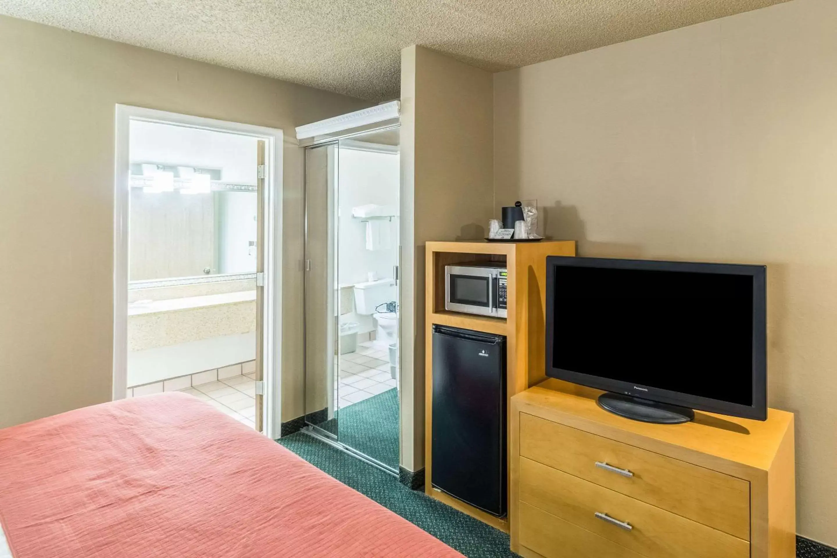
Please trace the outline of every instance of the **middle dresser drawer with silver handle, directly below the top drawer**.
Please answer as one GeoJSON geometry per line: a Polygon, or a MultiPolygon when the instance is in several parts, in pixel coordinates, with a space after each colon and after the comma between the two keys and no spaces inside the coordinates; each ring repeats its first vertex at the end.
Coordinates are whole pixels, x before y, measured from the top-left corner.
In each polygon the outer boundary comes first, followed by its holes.
{"type": "Polygon", "coordinates": [[[527,458],[520,459],[519,498],[645,556],[747,558],[750,555],[746,540],[527,458]],[[627,525],[597,517],[597,513],[627,525]]]}

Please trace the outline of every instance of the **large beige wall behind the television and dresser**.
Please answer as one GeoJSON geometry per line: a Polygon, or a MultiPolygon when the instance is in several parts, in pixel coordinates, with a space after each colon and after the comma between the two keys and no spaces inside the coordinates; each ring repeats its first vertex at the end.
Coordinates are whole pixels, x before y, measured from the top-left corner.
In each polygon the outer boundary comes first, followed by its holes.
{"type": "Polygon", "coordinates": [[[795,0],[495,76],[495,184],[583,256],[768,265],[798,533],[837,545],[837,3],[795,0]]]}

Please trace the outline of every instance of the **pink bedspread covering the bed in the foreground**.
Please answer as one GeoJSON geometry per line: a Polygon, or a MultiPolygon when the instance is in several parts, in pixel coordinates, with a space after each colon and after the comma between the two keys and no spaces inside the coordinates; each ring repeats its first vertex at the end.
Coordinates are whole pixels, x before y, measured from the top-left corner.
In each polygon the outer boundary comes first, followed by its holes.
{"type": "Polygon", "coordinates": [[[0,430],[14,558],[460,556],[195,397],[0,430]]]}

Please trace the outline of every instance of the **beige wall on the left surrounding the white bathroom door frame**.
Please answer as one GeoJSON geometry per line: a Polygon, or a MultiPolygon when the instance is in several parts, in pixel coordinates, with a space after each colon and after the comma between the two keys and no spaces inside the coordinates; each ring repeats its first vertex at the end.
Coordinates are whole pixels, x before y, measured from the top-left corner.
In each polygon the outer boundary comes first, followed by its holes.
{"type": "Polygon", "coordinates": [[[368,103],[7,17],[0,76],[0,427],[110,400],[117,103],[290,136],[283,400],[301,399],[294,127],[368,103]]]}

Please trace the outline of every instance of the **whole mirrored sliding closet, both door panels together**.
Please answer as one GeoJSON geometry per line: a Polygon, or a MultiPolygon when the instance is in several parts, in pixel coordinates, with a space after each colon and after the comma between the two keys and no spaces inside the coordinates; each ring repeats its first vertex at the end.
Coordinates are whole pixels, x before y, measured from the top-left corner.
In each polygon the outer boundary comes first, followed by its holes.
{"type": "Polygon", "coordinates": [[[306,424],[390,473],[399,465],[399,135],[306,147],[306,424]]]}

